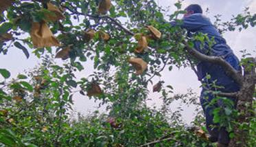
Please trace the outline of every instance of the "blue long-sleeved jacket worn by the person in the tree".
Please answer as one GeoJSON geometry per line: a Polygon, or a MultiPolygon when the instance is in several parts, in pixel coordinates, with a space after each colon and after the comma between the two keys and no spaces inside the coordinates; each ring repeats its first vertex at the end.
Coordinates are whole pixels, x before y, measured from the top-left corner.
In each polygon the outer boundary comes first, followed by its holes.
{"type": "MultiPolygon", "coordinates": [[[[177,25],[177,23],[172,21],[171,25],[177,25]]],[[[226,58],[229,55],[233,55],[233,51],[229,45],[226,45],[225,39],[221,36],[216,27],[214,27],[214,25],[206,16],[200,13],[191,14],[190,16],[183,18],[181,27],[187,30],[189,36],[201,32],[203,34],[207,34],[210,39],[214,38],[216,43],[213,44],[211,48],[209,48],[208,43],[205,42],[205,45],[203,45],[203,48],[201,49],[200,46],[202,45],[200,45],[200,41],[194,41],[194,48],[198,50],[198,52],[207,54],[208,56],[222,56],[223,58],[226,58]]],[[[235,56],[234,58],[236,60],[235,62],[239,64],[239,61],[237,62],[238,59],[235,56]]],[[[209,71],[209,67],[211,67],[210,63],[198,63],[198,80],[202,80],[202,78],[206,76],[207,71],[209,71]]]]}

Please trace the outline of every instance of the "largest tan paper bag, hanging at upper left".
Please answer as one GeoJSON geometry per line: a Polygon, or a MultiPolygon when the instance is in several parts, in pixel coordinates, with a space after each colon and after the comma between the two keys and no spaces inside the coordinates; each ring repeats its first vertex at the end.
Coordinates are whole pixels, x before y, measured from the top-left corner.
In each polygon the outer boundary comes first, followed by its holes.
{"type": "Polygon", "coordinates": [[[60,43],[54,37],[48,25],[42,21],[40,23],[33,22],[30,30],[30,36],[34,47],[51,47],[59,46],[60,43]]]}

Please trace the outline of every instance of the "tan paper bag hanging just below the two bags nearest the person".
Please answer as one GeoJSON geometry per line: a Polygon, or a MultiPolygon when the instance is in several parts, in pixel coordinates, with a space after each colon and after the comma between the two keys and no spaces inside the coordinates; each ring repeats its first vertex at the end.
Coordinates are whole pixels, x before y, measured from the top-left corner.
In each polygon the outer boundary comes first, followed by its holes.
{"type": "Polygon", "coordinates": [[[133,67],[136,69],[136,74],[140,75],[148,68],[148,63],[146,63],[141,58],[130,58],[128,60],[130,64],[132,64],[133,67]]]}

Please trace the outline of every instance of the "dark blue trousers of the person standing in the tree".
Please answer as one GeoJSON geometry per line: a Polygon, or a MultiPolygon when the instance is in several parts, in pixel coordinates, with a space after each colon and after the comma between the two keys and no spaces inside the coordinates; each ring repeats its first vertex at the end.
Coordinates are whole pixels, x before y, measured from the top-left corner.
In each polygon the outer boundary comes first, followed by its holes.
{"type": "MultiPolygon", "coordinates": [[[[239,60],[234,54],[230,54],[229,56],[226,56],[224,60],[226,60],[226,62],[228,62],[236,70],[238,71],[241,70],[239,60]]],[[[229,93],[229,92],[235,92],[240,90],[239,85],[236,82],[234,82],[232,78],[227,76],[224,69],[219,65],[215,65],[212,63],[202,63],[201,65],[202,67],[200,68],[202,69],[202,71],[205,71],[205,73],[201,73],[201,74],[211,75],[211,78],[207,80],[208,83],[212,83],[213,81],[216,81],[216,85],[224,87],[224,88],[218,89],[218,91],[229,93]]],[[[206,82],[206,79],[203,78],[202,82],[206,82]]],[[[218,140],[218,142],[222,144],[229,144],[229,140],[230,140],[229,133],[226,131],[226,128],[220,127],[220,124],[213,123],[213,110],[224,106],[224,103],[221,101],[218,101],[213,105],[209,105],[210,102],[215,98],[215,95],[213,95],[212,93],[206,93],[207,89],[209,89],[209,87],[203,87],[200,95],[200,103],[205,113],[207,130],[209,131],[209,134],[213,139],[218,140]]],[[[234,104],[236,104],[235,98],[228,98],[228,99],[232,100],[234,104]]]]}

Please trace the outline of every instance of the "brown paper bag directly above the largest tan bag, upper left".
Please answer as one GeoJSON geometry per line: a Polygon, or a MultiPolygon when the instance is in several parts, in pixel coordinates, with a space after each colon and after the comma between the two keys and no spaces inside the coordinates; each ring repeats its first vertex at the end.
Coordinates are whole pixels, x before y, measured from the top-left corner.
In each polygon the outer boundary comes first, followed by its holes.
{"type": "Polygon", "coordinates": [[[65,16],[62,12],[52,3],[47,3],[47,10],[52,12],[51,14],[45,13],[45,17],[49,21],[58,21],[60,19],[65,19],[65,16]]]}

